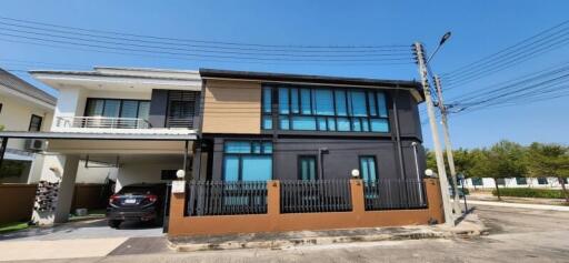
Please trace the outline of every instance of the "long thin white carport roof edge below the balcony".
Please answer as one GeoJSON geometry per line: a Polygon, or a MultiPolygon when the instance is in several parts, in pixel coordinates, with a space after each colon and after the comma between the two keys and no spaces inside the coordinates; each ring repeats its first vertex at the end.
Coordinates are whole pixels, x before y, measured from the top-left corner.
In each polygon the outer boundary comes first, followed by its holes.
{"type": "Polygon", "coordinates": [[[139,134],[139,133],[79,133],[79,132],[23,132],[3,131],[0,138],[18,139],[73,139],[73,140],[140,140],[140,141],[193,141],[196,134],[139,134]]]}

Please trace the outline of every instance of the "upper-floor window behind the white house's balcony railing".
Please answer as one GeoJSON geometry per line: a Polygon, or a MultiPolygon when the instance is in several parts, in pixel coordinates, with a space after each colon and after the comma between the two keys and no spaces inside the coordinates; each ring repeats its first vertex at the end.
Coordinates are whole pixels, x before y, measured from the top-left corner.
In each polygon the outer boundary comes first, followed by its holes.
{"type": "Polygon", "coordinates": [[[150,101],[91,99],[87,100],[86,117],[133,118],[148,120],[150,101]]]}

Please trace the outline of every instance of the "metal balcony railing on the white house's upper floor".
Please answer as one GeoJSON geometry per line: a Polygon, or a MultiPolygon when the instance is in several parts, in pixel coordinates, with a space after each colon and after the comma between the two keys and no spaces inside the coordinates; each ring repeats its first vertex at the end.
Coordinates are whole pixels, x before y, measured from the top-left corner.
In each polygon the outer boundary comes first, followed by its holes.
{"type": "Polygon", "coordinates": [[[109,117],[59,117],[58,128],[93,128],[93,129],[150,129],[147,120],[138,118],[109,117]]]}

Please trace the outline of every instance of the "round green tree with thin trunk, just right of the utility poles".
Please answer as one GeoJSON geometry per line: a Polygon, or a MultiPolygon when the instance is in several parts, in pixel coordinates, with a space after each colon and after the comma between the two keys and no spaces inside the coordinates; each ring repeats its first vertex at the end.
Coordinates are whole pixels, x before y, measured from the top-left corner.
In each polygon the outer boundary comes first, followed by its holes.
{"type": "Polygon", "coordinates": [[[522,178],[527,174],[525,149],[518,143],[502,140],[485,151],[486,168],[480,172],[488,172],[486,176],[492,178],[496,184],[498,200],[501,200],[499,179],[522,178]]]}

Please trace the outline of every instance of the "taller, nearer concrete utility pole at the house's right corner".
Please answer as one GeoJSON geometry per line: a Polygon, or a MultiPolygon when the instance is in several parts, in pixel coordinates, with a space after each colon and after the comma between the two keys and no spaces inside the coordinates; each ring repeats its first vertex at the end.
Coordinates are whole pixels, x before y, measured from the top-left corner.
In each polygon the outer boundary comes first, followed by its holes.
{"type": "Polygon", "coordinates": [[[419,65],[419,75],[421,77],[422,90],[425,93],[425,103],[427,104],[427,113],[429,115],[429,124],[432,133],[432,144],[435,145],[435,156],[437,158],[437,170],[439,174],[440,193],[442,195],[442,210],[445,212],[445,223],[455,226],[455,219],[452,216],[452,209],[449,201],[449,184],[447,182],[447,171],[445,170],[445,159],[439,141],[439,130],[437,128],[435,109],[432,107],[431,91],[429,88],[429,80],[427,78],[427,62],[425,60],[425,51],[422,44],[415,42],[415,52],[417,55],[417,63],[419,65]]]}

